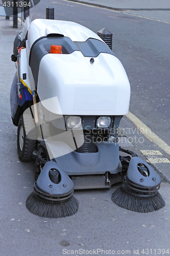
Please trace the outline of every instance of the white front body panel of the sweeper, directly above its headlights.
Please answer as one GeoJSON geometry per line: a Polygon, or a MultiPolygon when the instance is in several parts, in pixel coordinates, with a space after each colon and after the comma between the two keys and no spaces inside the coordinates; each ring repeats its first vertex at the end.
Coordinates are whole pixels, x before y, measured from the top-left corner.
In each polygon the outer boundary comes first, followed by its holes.
{"type": "Polygon", "coordinates": [[[93,65],[78,51],[46,54],[40,62],[37,92],[42,104],[57,96],[60,108],[53,101],[53,113],[60,115],[126,115],[129,111],[127,74],[122,63],[107,53],[94,58],[93,65]]]}

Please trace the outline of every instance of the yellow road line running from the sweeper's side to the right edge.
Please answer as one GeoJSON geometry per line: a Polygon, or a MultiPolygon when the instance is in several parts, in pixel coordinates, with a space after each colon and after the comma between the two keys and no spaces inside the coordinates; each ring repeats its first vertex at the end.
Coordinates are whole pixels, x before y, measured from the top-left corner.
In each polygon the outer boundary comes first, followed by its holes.
{"type": "Polygon", "coordinates": [[[155,144],[157,144],[162,150],[164,150],[168,155],[170,155],[170,146],[168,146],[162,139],[160,139],[155,133],[149,129],[147,125],[145,125],[142,121],[139,120],[135,115],[131,112],[126,115],[137,127],[139,127],[142,134],[148,136],[150,140],[152,140],[155,144]]]}

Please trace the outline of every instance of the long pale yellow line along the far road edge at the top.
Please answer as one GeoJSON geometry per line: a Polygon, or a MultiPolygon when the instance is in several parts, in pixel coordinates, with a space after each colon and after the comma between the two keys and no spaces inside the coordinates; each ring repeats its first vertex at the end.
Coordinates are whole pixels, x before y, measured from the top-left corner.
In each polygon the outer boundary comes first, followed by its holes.
{"type": "MultiPolygon", "coordinates": [[[[104,9],[104,10],[108,10],[108,11],[111,11],[111,12],[124,13],[124,14],[127,14],[127,15],[137,16],[137,17],[140,17],[140,18],[147,18],[147,19],[151,19],[151,20],[156,20],[157,22],[163,22],[163,23],[170,24],[170,22],[164,22],[163,20],[159,20],[159,19],[155,19],[155,18],[149,18],[149,17],[145,17],[145,16],[140,16],[140,15],[137,15],[137,14],[127,13],[125,11],[116,11],[116,10],[113,10],[113,9],[109,9],[109,7],[107,8],[107,6],[106,7],[100,7],[100,6],[89,5],[88,3],[79,3],[79,2],[69,1],[69,0],[68,1],[67,0],[62,0],[62,1],[72,2],[72,3],[78,4],[78,5],[85,5],[85,6],[89,6],[89,7],[93,7],[93,8],[98,8],[98,9],[104,9]]],[[[51,2],[51,3],[53,3],[53,2],[51,2]]],[[[133,11],[135,11],[135,10],[133,10],[133,11]]]]}

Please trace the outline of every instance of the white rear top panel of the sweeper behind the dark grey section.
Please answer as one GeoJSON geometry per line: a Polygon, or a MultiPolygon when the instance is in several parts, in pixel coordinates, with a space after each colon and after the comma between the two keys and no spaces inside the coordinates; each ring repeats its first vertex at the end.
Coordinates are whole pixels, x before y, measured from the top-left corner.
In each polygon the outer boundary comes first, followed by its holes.
{"type": "Polygon", "coordinates": [[[88,38],[95,38],[103,41],[90,29],[75,22],[54,19],[35,19],[28,30],[29,53],[33,43],[38,38],[47,36],[48,34],[61,34],[70,37],[72,41],[86,41],[88,38]]]}

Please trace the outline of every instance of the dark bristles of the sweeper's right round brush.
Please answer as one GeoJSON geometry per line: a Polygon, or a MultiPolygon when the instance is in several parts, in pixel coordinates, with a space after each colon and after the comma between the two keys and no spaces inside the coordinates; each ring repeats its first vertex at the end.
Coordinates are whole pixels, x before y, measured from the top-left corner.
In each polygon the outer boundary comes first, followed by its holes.
{"type": "Polygon", "coordinates": [[[137,212],[151,212],[165,206],[165,202],[159,192],[151,197],[138,197],[127,194],[122,187],[114,191],[111,199],[118,206],[137,212]]]}

